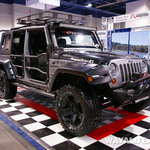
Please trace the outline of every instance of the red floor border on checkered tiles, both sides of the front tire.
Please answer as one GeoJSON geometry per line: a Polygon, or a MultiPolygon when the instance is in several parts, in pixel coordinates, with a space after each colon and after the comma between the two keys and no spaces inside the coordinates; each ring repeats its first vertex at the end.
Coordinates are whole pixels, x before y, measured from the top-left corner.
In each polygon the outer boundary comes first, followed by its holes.
{"type": "MultiPolygon", "coordinates": [[[[38,104],[32,100],[29,100],[29,99],[27,99],[27,98],[25,98],[19,94],[17,94],[15,96],[15,99],[17,101],[20,101],[20,102],[24,103],[25,105],[27,105],[31,108],[34,108],[35,110],[37,110],[43,114],[46,114],[49,117],[58,121],[56,111],[54,111],[48,107],[45,107],[41,104],[38,104]]],[[[119,112],[119,109],[114,109],[113,107],[109,107],[107,109],[112,110],[112,111],[116,111],[116,112],[123,114],[123,115],[126,115],[126,117],[96,129],[92,133],[88,134],[89,137],[91,137],[95,140],[100,140],[100,139],[102,139],[108,135],[114,134],[114,133],[116,133],[116,132],[118,132],[118,131],[132,125],[132,124],[135,124],[135,123],[141,121],[142,119],[144,119],[146,117],[148,117],[148,116],[141,115],[138,113],[127,112],[125,110],[122,110],[119,112]]]]}

